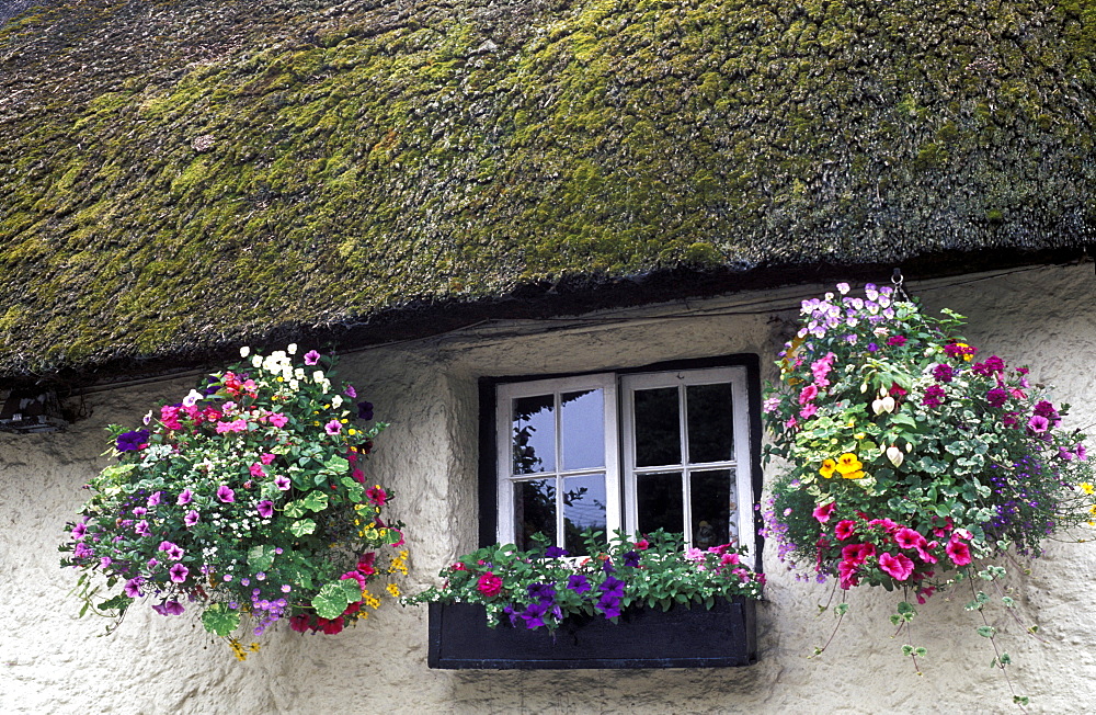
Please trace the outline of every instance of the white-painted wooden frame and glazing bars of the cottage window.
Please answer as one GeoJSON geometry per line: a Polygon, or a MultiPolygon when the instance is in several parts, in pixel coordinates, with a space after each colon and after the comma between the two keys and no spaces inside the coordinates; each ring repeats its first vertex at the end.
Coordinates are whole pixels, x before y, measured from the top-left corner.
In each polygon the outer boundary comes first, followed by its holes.
{"type": "MultiPolygon", "coordinates": [[[[556,450],[560,454],[561,412],[560,395],[584,389],[602,389],[604,396],[605,425],[605,495],[607,531],[624,529],[632,534],[638,529],[636,500],[636,475],[644,472],[682,470],[686,475],[683,481],[684,527],[686,543],[692,542],[692,500],[688,493],[692,472],[712,469],[730,469],[734,475],[734,498],[738,504],[738,545],[747,549],[751,559],[756,559],[756,538],[754,534],[753,461],[751,459],[750,399],[746,367],[744,365],[728,365],[721,367],[682,368],[669,371],[652,371],[640,373],[596,373],[549,379],[537,379],[514,383],[499,383],[495,387],[495,435],[496,462],[495,479],[498,484],[498,513],[495,521],[496,538],[500,543],[515,543],[514,524],[514,485],[529,479],[582,476],[600,473],[601,469],[584,468],[563,470],[557,461],[553,472],[515,475],[513,456],[513,405],[523,397],[553,395],[556,399],[556,450]],[[732,429],[734,434],[733,458],[724,462],[689,465],[686,453],[687,444],[682,445],[681,465],[660,465],[658,467],[635,467],[635,410],[633,395],[636,389],[650,387],[677,387],[681,385],[705,385],[729,383],[731,385],[732,429]]],[[[687,420],[685,390],[678,390],[681,400],[678,416],[687,420]]],[[[682,432],[683,433],[683,432],[682,432]]],[[[686,440],[687,442],[687,440],[686,440]]],[[[561,499],[561,489],[557,489],[557,500],[561,499]]],[[[557,501],[556,531],[563,531],[563,509],[557,501]]]]}

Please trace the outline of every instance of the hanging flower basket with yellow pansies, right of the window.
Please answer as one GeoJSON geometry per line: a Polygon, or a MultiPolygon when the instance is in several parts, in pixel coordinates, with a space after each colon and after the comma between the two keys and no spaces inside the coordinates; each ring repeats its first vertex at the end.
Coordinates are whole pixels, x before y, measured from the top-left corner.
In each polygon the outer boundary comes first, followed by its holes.
{"type": "MultiPolygon", "coordinates": [[[[1037,556],[1051,533],[1092,523],[1092,468],[1084,435],[1061,427],[1068,405],[1026,367],[981,359],[956,313],[931,317],[890,287],[837,291],[803,302],[765,400],[766,462],[790,465],[764,510],[783,560],[924,603],[979,561],[1037,556]]],[[[977,593],[974,608],[986,600],[977,593]]],[[[909,622],[913,606],[895,615],[909,622]]]]}

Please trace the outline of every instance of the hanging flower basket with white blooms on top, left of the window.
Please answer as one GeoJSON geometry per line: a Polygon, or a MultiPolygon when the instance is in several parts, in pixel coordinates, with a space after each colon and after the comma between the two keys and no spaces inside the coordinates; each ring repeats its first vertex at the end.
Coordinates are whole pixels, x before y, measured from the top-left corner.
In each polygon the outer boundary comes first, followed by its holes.
{"type": "MultiPolygon", "coordinates": [[[[68,524],[62,566],[82,571],[89,610],[119,623],[135,601],[162,615],[185,603],[205,628],[228,638],[249,616],[254,635],[288,620],[298,632],[339,633],[377,608],[369,585],[406,574],[401,524],[380,514],[391,495],[365,483],[364,459],[385,427],[350,385],[332,382],[333,356],[296,363],[296,347],[204,379],[145,427],[111,425],[106,467],[68,524]],[[96,578],[99,577],[99,578],[96,578]],[[122,592],[101,602],[103,586],[122,592]]],[[[241,350],[248,359],[249,349],[241,350]]],[[[395,583],[388,592],[398,597],[395,583]]]]}

